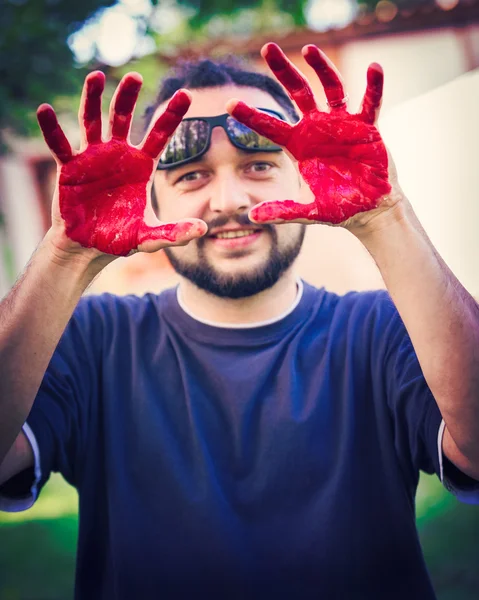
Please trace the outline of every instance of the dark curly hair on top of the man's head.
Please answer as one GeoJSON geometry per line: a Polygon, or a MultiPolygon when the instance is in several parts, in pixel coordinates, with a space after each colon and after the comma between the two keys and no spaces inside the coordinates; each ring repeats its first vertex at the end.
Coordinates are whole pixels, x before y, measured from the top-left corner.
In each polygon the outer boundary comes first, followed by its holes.
{"type": "Polygon", "coordinates": [[[239,59],[229,58],[214,61],[203,58],[195,61],[183,61],[167,73],[160,84],[155,102],[145,111],[145,128],[150,124],[158,106],[169,100],[180,88],[201,89],[225,85],[254,87],[263,90],[276,100],[293,123],[299,120],[294,104],[275,79],[253,70],[250,64],[239,59]]]}

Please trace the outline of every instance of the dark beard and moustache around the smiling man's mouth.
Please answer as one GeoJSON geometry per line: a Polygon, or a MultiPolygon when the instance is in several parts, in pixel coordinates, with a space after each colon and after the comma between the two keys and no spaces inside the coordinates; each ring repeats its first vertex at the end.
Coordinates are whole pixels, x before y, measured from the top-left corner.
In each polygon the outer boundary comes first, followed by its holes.
{"type": "MultiPolygon", "coordinates": [[[[252,224],[255,227],[258,226],[248,219],[248,215],[242,214],[235,215],[234,217],[218,217],[208,224],[208,229],[211,231],[211,229],[215,227],[223,227],[231,222],[235,222],[242,226],[252,224]]],[[[278,234],[273,225],[261,225],[261,229],[264,233],[271,236],[271,249],[266,262],[262,266],[247,273],[219,273],[206,256],[205,237],[199,238],[196,241],[198,259],[194,263],[183,261],[175,256],[172,248],[165,248],[164,251],[174,270],[200,289],[221,298],[247,298],[248,296],[254,296],[263,290],[272,287],[279,280],[281,275],[289,269],[303,245],[306,225],[301,225],[297,236],[288,246],[283,248],[280,248],[279,246],[278,234]]],[[[242,252],[237,254],[238,257],[243,255],[242,252]]],[[[231,259],[234,260],[234,254],[231,256],[231,259]]]]}

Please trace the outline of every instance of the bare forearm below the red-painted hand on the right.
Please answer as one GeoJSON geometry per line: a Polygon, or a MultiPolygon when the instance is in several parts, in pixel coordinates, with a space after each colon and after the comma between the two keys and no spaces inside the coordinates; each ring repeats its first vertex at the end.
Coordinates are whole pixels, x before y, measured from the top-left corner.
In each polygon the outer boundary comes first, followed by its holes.
{"type": "Polygon", "coordinates": [[[479,469],[479,308],[405,200],[356,234],[404,321],[449,434],[479,469]],[[392,218],[391,218],[392,217],[392,218]]]}

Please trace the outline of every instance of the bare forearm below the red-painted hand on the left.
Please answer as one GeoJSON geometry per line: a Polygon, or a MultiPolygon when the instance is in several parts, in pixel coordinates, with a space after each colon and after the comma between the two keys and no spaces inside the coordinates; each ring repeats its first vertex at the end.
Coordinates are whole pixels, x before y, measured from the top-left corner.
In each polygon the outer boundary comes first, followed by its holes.
{"type": "Polygon", "coordinates": [[[51,236],[0,303],[0,464],[27,418],[43,375],[83,291],[98,273],[51,236]]]}

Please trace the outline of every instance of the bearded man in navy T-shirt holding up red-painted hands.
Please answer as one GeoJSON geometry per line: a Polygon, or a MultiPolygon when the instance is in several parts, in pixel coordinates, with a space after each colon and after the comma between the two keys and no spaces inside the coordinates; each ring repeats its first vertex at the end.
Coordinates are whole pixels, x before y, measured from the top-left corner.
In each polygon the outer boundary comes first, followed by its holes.
{"type": "Polygon", "coordinates": [[[87,78],[79,153],[39,109],[59,179],[2,303],[0,481],[17,509],[51,470],[77,487],[78,598],[434,598],[419,470],[478,500],[478,308],[374,126],[382,71],[351,115],[317,48],[328,111],[277,46],[263,56],[299,122],[272,80],[208,61],[164,82],[136,148],[136,74],[105,140],[87,78]],[[356,235],[389,294],[299,281],[310,222],[356,235]],[[79,302],[115,256],[162,247],[178,290],[79,302]]]}

